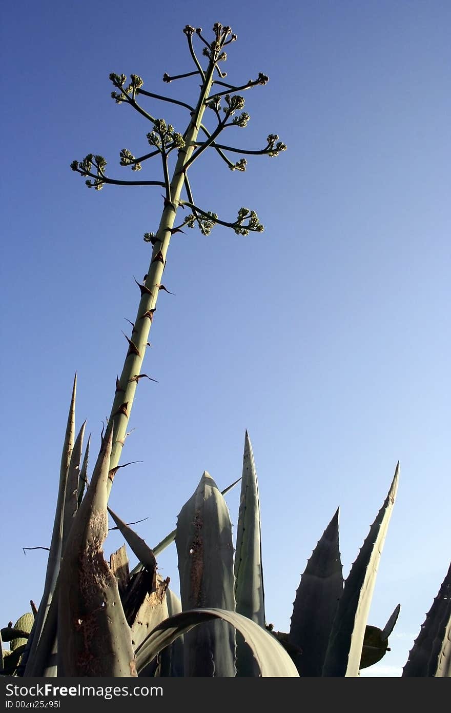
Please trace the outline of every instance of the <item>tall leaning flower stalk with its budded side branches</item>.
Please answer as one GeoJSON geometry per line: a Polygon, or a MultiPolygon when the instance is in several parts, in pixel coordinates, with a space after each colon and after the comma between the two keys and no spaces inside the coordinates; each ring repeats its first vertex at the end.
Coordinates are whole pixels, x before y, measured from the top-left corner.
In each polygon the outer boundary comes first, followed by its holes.
{"type": "MultiPolygon", "coordinates": [[[[125,86],[127,78],[125,75],[111,74],[110,80],[115,86],[112,97],[117,103],[128,103],[138,113],[145,116],[152,124],[152,130],[147,133],[147,140],[152,146],[150,153],[136,158],[128,149],[120,151],[120,164],[130,166],[132,170],[139,171],[145,160],[160,155],[162,161],[163,180],[133,180],[123,181],[108,178],[105,174],[106,160],[99,155],[87,155],[80,163],[73,161],[71,168],[81,175],[88,177],[86,184],[90,188],[100,190],[105,184],[113,185],[155,185],[164,188],[164,206],[160,225],[157,232],[145,233],[145,240],[152,242],[152,257],[150,265],[142,284],[138,283],[140,289],[140,303],[136,314],[135,322],[130,337],[125,337],[128,341],[128,351],[125,356],[122,373],[116,381],[115,396],[113,406],[110,411],[108,425],[104,438],[108,438],[110,431],[113,431],[113,446],[110,456],[110,478],[108,492],[113,482],[113,476],[118,468],[120,455],[127,435],[128,421],[135,398],[135,391],[142,378],[150,378],[147,374],[142,374],[142,361],[145,351],[149,345],[149,333],[152,326],[153,314],[156,309],[157,297],[161,289],[166,289],[162,284],[162,275],[165,270],[167,250],[170,245],[171,236],[175,232],[182,230],[185,225],[194,227],[197,225],[203,235],[208,235],[215,224],[230,227],[238,235],[247,235],[249,231],[261,232],[264,228],[259,222],[256,212],[242,207],[238,211],[237,219],[230,222],[221,220],[215,213],[203,210],[195,204],[190,183],[188,180],[188,170],[191,165],[204,153],[207,148],[216,150],[220,158],[227,163],[231,170],[244,171],[246,159],[241,158],[236,163],[228,158],[228,153],[248,153],[259,155],[278,155],[279,151],[285,150],[286,146],[278,141],[279,137],[270,134],[267,143],[261,150],[241,150],[234,146],[217,143],[217,138],[226,128],[245,127],[249,121],[249,114],[242,111],[244,108],[244,98],[237,94],[256,85],[263,85],[268,81],[263,73],[259,73],[256,80],[250,80],[241,86],[233,86],[223,81],[226,76],[219,68],[219,63],[227,59],[224,47],[232,43],[237,37],[232,34],[229,27],[224,27],[217,23],[213,28],[214,39],[207,42],[202,36],[202,29],[195,29],[187,25],[184,33],[187,36],[187,43],[190,55],[195,63],[196,70],[177,76],[165,74],[163,81],[181,79],[189,76],[201,78],[199,97],[195,106],[177,101],[172,98],[160,96],[142,89],[142,79],[132,74],[130,84],[125,86]],[[193,37],[203,43],[202,55],[208,59],[207,67],[204,69],[197,58],[193,46],[193,37]],[[216,88],[219,91],[214,93],[216,88]],[[147,96],[159,101],[167,101],[185,107],[190,111],[190,122],[183,134],[177,133],[172,125],[167,124],[164,119],[158,119],[147,113],[140,104],[138,96],[147,96]],[[202,118],[206,109],[213,111],[217,118],[217,126],[209,131],[202,123],[202,118]],[[237,112],[241,112],[237,115],[237,112]],[[204,139],[198,140],[199,132],[202,131],[204,139]],[[170,178],[169,159],[170,154],[177,150],[177,162],[170,178]],[[185,191],[186,197],[182,198],[185,191]],[[188,207],[192,211],[183,222],[175,226],[175,217],[179,207],[188,207]]],[[[99,455],[100,458],[100,455],[99,455]]]]}

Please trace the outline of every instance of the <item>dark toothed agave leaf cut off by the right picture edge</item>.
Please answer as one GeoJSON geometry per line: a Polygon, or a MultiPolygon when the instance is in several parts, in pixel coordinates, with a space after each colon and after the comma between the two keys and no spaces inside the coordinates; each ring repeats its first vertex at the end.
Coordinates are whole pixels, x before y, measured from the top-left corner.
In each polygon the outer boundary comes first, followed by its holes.
{"type": "Polygon", "coordinates": [[[402,675],[451,677],[451,564],[410,650],[402,675]]]}

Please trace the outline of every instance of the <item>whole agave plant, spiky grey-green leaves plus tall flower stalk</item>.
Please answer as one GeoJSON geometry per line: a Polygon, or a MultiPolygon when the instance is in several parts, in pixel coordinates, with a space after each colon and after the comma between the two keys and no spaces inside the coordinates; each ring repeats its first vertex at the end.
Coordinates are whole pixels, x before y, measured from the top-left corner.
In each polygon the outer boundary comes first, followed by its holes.
{"type": "MultiPolygon", "coordinates": [[[[1,630],[3,639],[11,641],[10,652],[2,653],[2,672],[25,677],[358,676],[361,668],[385,655],[400,608],[395,607],[383,629],[368,625],[375,576],[398,488],[399,464],[346,581],[338,548],[338,511],[333,515],[301,577],[289,632],[274,632],[266,622],[259,490],[247,433],[235,548],[225,491],[219,491],[207,472],[181,509],[175,530],[154,548],[108,508],[115,473],[128,465],[119,462],[135,391],[143,378],[150,379],[142,373],[142,361],[158,294],[168,292],[162,275],[172,235],[194,225],[204,235],[216,224],[230,227],[238,235],[263,230],[254,210],[242,207],[236,220],[226,221],[196,205],[187,178],[190,166],[211,148],[228,168],[243,171],[245,158],[234,163],[230,153],[274,157],[286,148],[276,134],[269,134],[259,150],[218,143],[226,128],[247,125],[249,115],[242,111],[244,98],[239,92],[264,85],[268,78],[259,73],[255,80],[239,86],[224,82],[219,63],[226,59],[224,47],[236,39],[229,27],[215,24],[212,41],[204,38],[202,29],[186,26],[184,32],[195,71],[165,74],[163,80],[200,78],[199,96],[192,106],[143,90],[137,75],[130,76],[128,85],[125,75],[110,75],[115,102],[131,106],[151,123],[147,133],[150,153],[136,158],[123,149],[120,165],[136,172],[146,160],[159,156],[162,180],[110,178],[105,173],[106,160],[100,155],[88,154],[71,164],[95,190],[124,183],[161,187],[163,210],[157,231],[145,233],[145,240],[152,243],[152,257],[144,281],[138,283],[138,312],[130,337],[125,335],[123,370],[116,380],[113,406],[89,483],[89,441],[82,461],[85,424],[77,436],[75,430],[74,381],[43,597],[38,610],[1,630]],[[203,43],[205,68],[195,52],[195,37],[203,43]],[[138,103],[141,96],[186,108],[190,118],[184,133],[142,108],[138,103]],[[203,123],[207,110],[216,123],[210,130],[203,123]],[[199,132],[203,140],[199,140],[199,132]],[[175,154],[170,178],[170,160],[175,154]],[[181,206],[192,212],[175,226],[181,206]],[[125,546],[111,555],[109,563],[103,556],[108,512],[139,560],[131,572],[125,546]],[[170,588],[170,580],[163,580],[157,571],[157,556],[174,540],[180,598],[170,588]]],[[[450,675],[450,580],[449,570],[410,652],[404,675],[450,675]]]]}

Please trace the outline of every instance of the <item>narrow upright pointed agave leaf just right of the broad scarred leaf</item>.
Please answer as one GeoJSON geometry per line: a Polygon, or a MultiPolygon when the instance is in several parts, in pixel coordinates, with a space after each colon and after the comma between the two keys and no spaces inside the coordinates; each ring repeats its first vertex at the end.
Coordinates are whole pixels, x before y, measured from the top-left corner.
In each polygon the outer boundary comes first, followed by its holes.
{"type": "MultiPolygon", "coordinates": [[[[237,550],[234,560],[237,612],[265,626],[259,486],[249,434],[244,436],[243,474],[239,501],[237,550]]],[[[256,676],[256,662],[237,635],[237,676],[256,676]]]]}

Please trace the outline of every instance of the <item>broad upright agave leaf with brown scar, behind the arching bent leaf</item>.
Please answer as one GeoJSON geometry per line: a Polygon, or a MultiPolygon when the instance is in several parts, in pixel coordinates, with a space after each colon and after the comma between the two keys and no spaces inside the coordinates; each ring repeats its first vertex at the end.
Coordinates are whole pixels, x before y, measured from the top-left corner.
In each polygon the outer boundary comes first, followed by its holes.
{"type": "MultiPolygon", "coordinates": [[[[183,610],[234,611],[232,523],[226,502],[206,471],[177,518],[175,535],[183,610]]],[[[212,620],[185,637],[185,675],[234,677],[235,632],[212,620]]]]}

